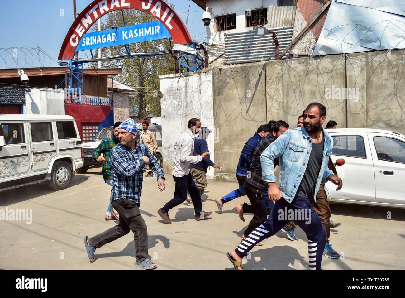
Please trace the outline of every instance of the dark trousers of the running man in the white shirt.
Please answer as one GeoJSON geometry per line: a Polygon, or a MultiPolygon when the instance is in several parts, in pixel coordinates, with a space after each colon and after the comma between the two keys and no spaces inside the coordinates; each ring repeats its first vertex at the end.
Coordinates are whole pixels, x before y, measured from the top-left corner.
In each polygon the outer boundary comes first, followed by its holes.
{"type": "Polygon", "coordinates": [[[187,199],[187,191],[188,191],[188,193],[190,193],[190,197],[193,202],[194,211],[196,212],[196,215],[201,215],[201,212],[203,212],[203,205],[201,204],[200,190],[196,186],[196,183],[194,182],[191,173],[188,173],[183,177],[173,176],[173,179],[175,180],[176,183],[175,197],[162,207],[162,212],[167,213],[172,208],[179,206],[181,203],[183,203],[187,199]]]}

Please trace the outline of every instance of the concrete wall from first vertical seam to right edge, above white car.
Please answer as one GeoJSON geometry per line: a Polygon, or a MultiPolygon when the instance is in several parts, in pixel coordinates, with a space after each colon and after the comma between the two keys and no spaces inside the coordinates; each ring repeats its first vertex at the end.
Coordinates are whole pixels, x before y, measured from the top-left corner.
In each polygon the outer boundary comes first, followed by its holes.
{"type": "Polygon", "coordinates": [[[269,61],[268,118],[294,126],[304,108],[317,101],[326,106],[326,122],[335,120],[338,128],[405,134],[404,54],[405,50],[396,50],[269,61]]]}

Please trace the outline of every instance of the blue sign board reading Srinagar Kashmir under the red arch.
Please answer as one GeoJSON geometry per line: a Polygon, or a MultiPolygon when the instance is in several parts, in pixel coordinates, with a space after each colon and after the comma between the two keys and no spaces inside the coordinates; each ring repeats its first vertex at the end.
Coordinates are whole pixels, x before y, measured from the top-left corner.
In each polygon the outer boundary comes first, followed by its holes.
{"type": "Polygon", "coordinates": [[[154,21],[117,29],[86,33],[81,38],[76,51],[128,45],[130,43],[141,43],[143,41],[154,41],[170,37],[171,35],[166,27],[164,27],[160,21],[154,21]]]}

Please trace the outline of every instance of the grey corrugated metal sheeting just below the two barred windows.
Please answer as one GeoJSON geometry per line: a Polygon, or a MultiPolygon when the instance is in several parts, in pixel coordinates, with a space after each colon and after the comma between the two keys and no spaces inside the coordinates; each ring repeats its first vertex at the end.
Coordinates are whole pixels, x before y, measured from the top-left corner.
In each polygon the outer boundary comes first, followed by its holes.
{"type": "MultiPolygon", "coordinates": [[[[269,28],[277,34],[279,53],[291,43],[292,30],[290,27],[269,28]]],[[[226,64],[258,62],[276,58],[276,46],[273,36],[255,35],[255,30],[239,33],[225,34],[225,59],[226,64]]]]}

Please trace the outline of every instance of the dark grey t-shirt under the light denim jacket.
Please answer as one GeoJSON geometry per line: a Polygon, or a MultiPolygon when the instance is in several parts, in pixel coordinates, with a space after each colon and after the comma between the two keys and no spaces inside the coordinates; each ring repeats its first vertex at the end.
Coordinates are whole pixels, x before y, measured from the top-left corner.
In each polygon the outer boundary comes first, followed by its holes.
{"type": "Polygon", "coordinates": [[[311,154],[309,154],[308,165],[305,169],[301,184],[298,187],[296,194],[297,197],[307,197],[308,199],[311,199],[311,197],[313,197],[316,180],[318,180],[319,171],[321,170],[322,155],[324,153],[324,143],[325,137],[323,134],[322,141],[320,141],[318,144],[312,143],[312,150],[311,154]]]}

